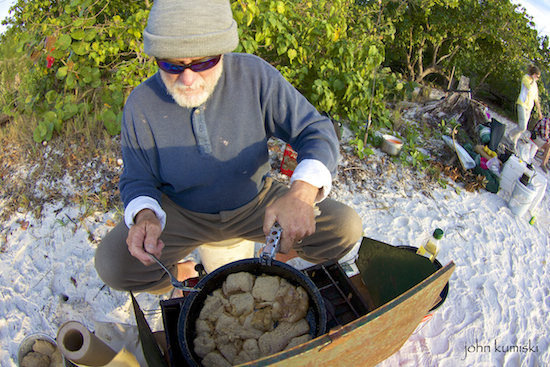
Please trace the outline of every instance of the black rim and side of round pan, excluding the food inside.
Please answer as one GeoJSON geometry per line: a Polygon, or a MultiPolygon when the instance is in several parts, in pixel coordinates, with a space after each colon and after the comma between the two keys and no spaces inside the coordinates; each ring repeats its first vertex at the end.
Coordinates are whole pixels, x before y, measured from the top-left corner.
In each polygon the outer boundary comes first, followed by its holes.
{"type": "Polygon", "coordinates": [[[194,351],[196,338],[195,321],[203,307],[206,296],[218,288],[229,274],[241,271],[256,276],[266,274],[286,279],[294,286],[302,286],[309,294],[309,311],[306,316],[310,325],[310,335],[316,338],[326,332],[327,314],[323,297],[313,281],[301,271],[280,261],[272,260],[266,265],[258,258],[239,260],[224,265],[205,276],[197,283],[199,292],[191,292],[183,303],[178,319],[178,341],[185,360],[190,366],[202,366],[201,359],[194,351]]]}

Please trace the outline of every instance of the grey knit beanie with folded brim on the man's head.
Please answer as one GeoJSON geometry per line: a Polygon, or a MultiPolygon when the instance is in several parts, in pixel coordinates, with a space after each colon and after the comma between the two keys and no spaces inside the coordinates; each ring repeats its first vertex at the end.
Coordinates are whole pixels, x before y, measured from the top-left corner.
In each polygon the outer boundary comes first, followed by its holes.
{"type": "Polygon", "coordinates": [[[161,59],[214,56],[239,44],[229,0],[155,0],[143,48],[161,59]]]}

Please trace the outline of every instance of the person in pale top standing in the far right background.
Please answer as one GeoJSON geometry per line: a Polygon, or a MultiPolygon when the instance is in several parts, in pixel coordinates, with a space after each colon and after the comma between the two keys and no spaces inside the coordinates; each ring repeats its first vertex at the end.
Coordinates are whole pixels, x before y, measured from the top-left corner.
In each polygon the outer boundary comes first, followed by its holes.
{"type": "Polygon", "coordinates": [[[531,65],[521,79],[521,91],[516,101],[518,111],[518,127],[510,132],[510,139],[514,144],[514,150],[517,151],[518,140],[521,134],[527,129],[533,106],[537,105],[539,120],[542,120],[542,110],[539,103],[539,89],[537,81],[540,78],[540,69],[531,65]]]}

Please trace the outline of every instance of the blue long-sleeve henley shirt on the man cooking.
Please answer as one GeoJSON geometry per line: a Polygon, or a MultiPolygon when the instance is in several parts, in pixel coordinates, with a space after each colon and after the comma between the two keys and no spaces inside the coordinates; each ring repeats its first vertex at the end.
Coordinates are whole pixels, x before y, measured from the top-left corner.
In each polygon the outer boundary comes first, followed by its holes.
{"type": "Polygon", "coordinates": [[[331,121],[267,62],[226,54],[207,102],[187,109],[168,94],[160,75],[130,94],[122,119],[126,205],[161,193],[197,212],[238,208],[261,190],[270,170],[267,141],[289,142],[298,161],[314,159],[334,174],[338,140],[331,121]]]}

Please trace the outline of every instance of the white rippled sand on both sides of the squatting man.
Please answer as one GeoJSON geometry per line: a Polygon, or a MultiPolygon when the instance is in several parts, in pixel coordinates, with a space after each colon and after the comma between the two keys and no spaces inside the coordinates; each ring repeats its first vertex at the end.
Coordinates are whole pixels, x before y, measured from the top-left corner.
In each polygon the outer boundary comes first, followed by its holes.
{"type": "MultiPolygon", "coordinates": [[[[419,246],[443,229],[437,259],[456,269],[445,303],[380,366],[550,365],[550,189],[536,212],[518,217],[500,194],[453,182],[423,190],[399,163],[381,165],[386,158],[376,150],[362,161],[365,170],[381,170],[383,181],[369,189],[339,181],[332,197],[355,208],[366,237],[391,245],[419,246]]],[[[540,158],[534,165],[549,178],[540,158]]],[[[25,336],[55,337],[65,321],[91,331],[96,321],[135,324],[129,294],[104,286],[94,269],[95,249],[116,213],[79,220],[83,211],[52,202],[40,218],[18,213],[0,224],[0,365],[17,366],[25,336]]],[[[163,328],[159,300],[166,297],[137,296],[153,331],[163,328]]]]}

